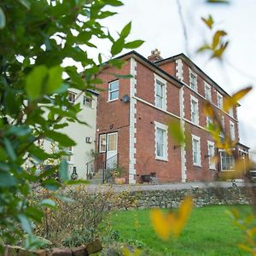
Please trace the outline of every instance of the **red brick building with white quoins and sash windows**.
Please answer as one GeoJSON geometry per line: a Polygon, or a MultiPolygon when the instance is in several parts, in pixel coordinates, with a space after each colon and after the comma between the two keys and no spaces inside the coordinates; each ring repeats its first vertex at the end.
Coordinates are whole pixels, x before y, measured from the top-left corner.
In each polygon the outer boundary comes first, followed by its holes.
{"type": "MultiPolygon", "coordinates": [[[[119,58],[126,61],[121,70],[107,66],[98,75],[103,90],[96,114],[97,162],[106,169],[121,166],[127,183],[142,182],[151,173],[160,182],[211,180],[234,169],[234,157],[215,147],[203,111],[204,102],[211,102],[225,132],[239,143],[236,108],[221,110],[229,97],[225,90],[183,54],[162,59],[155,49],[148,59],[136,51],[119,58]],[[113,73],[133,78],[117,79],[113,73]],[[170,136],[173,121],[189,143],[178,145],[170,136]],[[218,164],[210,160],[214,154],[218,164]]],[[[241,143],[234,150],[248,153],[241,143]]]]}

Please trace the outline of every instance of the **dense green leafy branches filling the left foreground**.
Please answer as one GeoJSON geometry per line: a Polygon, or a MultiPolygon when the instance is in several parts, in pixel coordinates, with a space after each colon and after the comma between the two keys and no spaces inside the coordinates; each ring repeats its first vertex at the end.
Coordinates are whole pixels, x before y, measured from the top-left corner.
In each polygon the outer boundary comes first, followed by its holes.
{"type": "MultiPolygon", "coordinates": [[[[69,183],[63,156],[65,148],[75,142],[58,129],[68,122],[81,123],[79,104],[67,100],[68,88],[90,96],[88,90],[102,83],[95,79],[103,67],[102,54],[99,53],[96,63],[87,53],[96,48],[95,39],[107,40],[111,55],[143,43],[126,41],[131,22],[117,38],[101,25],[102,19],[115,15],[109,7],[122,4],[119,0],[1,1],[0,241],[14,243],[25,231],[29,235],[26,246],[35,245],[33,223],[40,223],[44,207],[54,207],[55,202],[45,199],[30,204],[30,184],[39,182],[51,190],[60,188],[61,183],[50,178],[55,170],[59,170],[64,183],[69,183]],[[79,62],[84,71],[78,73],[76,67],[62,67],[65,58],[79,62]],[[68,79],[63,80],[64,74],[68,79]],[[55,154],[38,146],[36,142],[42,139],[55,143],[55,154]],[[60,164],[41,172],[37,166],[44,160],[60,164]]],[[[122,67],[124,62],[109,60],[109,64],[122,67]]]]}

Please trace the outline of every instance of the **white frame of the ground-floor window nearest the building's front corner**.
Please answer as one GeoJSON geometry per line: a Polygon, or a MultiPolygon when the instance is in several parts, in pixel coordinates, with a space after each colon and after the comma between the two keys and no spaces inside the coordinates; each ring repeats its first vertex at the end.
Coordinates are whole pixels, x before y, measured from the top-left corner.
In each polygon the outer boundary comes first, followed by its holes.
{"type": "Polygon", "coordinates": [[[168,126],[158,123],[154,121],[154,154],[156,160],[164,160],[168,161],[168,126]],[[157,154],[157,144],[158,144],[158,137],[157,137],[157,130],[164,131],[163,137],[163,156],[157,154]]]}

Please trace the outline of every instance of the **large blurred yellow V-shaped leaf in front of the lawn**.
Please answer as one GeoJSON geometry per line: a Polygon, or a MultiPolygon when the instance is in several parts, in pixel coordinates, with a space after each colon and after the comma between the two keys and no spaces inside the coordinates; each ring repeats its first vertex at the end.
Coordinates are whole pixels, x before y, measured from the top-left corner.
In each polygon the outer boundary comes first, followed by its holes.
{"type": "Polygon", "coordinates": [[[162,240],[168,240],[172,236],[179,236],[189,218],[193,207],[192,198],[186,197],[175,212],[162,212],[154,209],[150,212],[151,224],[154,231],[162,240]]]}

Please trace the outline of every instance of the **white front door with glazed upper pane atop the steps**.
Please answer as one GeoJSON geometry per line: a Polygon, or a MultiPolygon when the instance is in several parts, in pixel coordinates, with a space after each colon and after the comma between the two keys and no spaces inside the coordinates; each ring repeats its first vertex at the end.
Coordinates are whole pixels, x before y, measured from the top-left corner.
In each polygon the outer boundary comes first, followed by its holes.
{"type": "Polygon", "coordinates": [[[113,169],[117,167],[117,143],[118,133],[108,133],[107,135],[107,162],[106,168],[113,169]]]}

